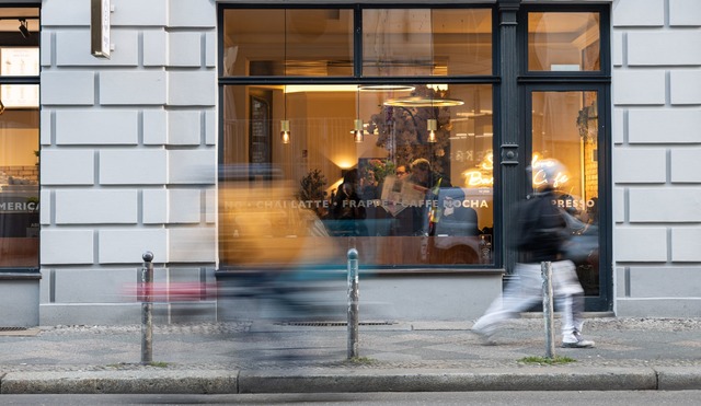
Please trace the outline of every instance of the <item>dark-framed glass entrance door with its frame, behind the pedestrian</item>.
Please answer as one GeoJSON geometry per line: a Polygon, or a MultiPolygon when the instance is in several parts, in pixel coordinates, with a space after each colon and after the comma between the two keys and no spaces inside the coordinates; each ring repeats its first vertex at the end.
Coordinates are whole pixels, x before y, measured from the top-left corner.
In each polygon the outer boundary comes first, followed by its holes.
{"type": "Polygon", "coordinates": [[[530,89],[526,102],[526,146],[532,171],[526,189],[532,192],[542,178],[544,159],[556,159],[566,166],[559,174],[556,204],[568,216],[572,241],[590,246],[572,259],[584,288],[587,311],[604,311],[608,306],[610,272],[606,264],[608,250],[607,182],[605,182],[607,147],[604,137],[601,107],[602,89],[582,90],[530,89]]]}

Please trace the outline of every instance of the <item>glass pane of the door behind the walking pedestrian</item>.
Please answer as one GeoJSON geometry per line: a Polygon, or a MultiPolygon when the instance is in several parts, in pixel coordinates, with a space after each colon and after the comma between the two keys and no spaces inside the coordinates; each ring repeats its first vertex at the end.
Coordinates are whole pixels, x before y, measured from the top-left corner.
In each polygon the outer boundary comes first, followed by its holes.
{"type": "MultiPolygon", "coordinates": [[[[532,156],[554,158],[567,172],[558,175],[555,204],[566,213],[575,239],[599,236],[598,113],[596,92],[533,92],[532,156]]],[[[533,170],[533,188],[540,182],[533,170]]],[[[598,248],[575,260],[587,295],[599,294],[598,248]]]]}

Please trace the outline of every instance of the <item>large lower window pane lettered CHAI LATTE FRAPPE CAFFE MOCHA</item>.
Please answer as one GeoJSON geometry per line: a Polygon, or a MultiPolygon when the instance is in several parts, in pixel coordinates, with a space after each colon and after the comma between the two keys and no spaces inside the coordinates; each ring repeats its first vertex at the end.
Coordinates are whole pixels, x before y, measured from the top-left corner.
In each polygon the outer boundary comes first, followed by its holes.
{"type": "MultiPolygon", "coordinates": [[[[357,247],[364,265],[493,264],[491,85],[227,85],[223,100],[222,264],[244,265],[233,235],[240,239],[245,224],[232,219],[255,216],[237,214],[237,198],[227,200],[241,189],[255,190],[246,196],[257,200],[245,207],[277,221],[266,228],[273,237],[313,232],[341,252],[357,247]],[[400,97],[461,104],[386,103],[400,97]],[[295,135],[288,144],[277,137],[284,112],[295,135]],[[364,123],[364,142],[350,132],[356,123],[364,123]],[[409,177],[399,167],[411,169],[409,177]],[[307,225],[294,225],[299,222],[307,225]]],[[[318,255],[325,254],[310,251],[302,260],[345,263],[343,255],[318,255]]]]}

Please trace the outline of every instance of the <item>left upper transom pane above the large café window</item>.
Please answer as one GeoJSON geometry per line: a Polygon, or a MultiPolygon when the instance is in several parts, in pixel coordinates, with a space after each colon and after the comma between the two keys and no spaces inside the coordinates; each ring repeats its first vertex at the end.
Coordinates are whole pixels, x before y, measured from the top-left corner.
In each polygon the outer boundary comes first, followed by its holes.
{"type": "Polygon", "coordinates": [[[223,12],[223,72],[231,77],[353,74],[353,11],[223,12]]]}

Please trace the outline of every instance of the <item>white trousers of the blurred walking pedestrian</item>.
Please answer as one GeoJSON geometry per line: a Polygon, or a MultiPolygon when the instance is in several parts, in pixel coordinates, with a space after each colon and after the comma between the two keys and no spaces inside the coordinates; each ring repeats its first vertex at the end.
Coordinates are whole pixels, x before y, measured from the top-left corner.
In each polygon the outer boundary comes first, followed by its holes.
{"type": "MultiPolygon", "coordinates": [[[[541,264],[516,264],[515,275],[518,279],[506,286],[504,293],[492,302],[472,328],[492,334],[501,323],[542,301],[541,264]]],[[[555,305],[562,312],[563,339],[571,341],[572,333],[581,332],[584,324],[584,290],[571,260],[552,263],[552,290],[555,305]]]]}

